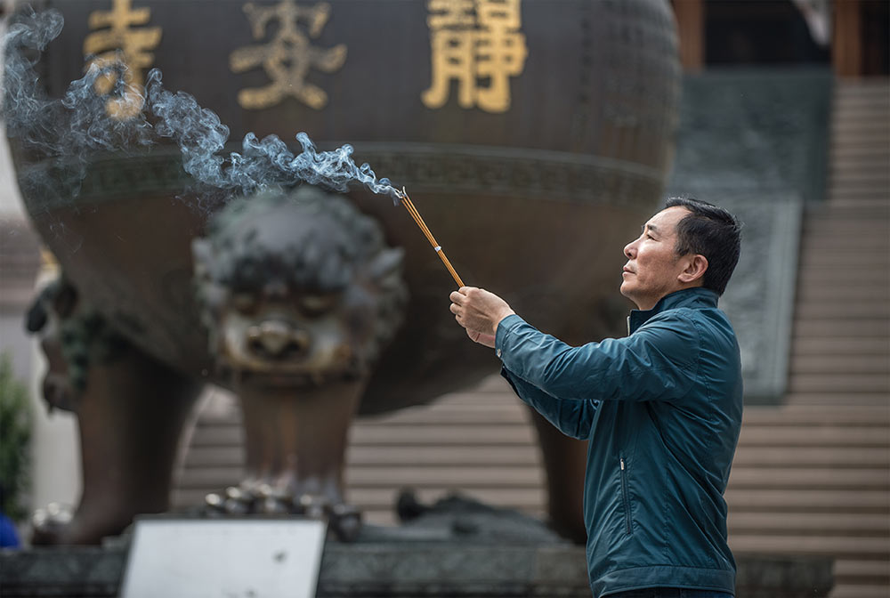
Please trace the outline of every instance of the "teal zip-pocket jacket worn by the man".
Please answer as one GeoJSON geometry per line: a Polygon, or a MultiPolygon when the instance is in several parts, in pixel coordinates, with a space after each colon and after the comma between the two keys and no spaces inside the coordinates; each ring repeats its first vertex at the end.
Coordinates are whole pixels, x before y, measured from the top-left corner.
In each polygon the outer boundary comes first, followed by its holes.
{"type": "Polygon", "coordinates": [[[571,347],[513,315],[495,348],[523,401],[589,440],[594,595],[652,586],[733,594],[723,495],[741,426],[735,333],[703,288],[632,311],[628,327],[624,338],[571,347]]]}

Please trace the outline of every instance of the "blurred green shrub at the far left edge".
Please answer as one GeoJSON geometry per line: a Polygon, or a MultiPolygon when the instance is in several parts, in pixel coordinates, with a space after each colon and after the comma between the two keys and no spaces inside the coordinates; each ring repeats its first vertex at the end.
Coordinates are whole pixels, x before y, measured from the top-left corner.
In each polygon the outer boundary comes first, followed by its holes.
{"type": "Polygon", "coordinates": [[[21,504],[28,483],[28,440],[31,436],[28,388],[15,378],[12,358],[0,354],[0,510],[13,521],[28,513],[21,504]]]}

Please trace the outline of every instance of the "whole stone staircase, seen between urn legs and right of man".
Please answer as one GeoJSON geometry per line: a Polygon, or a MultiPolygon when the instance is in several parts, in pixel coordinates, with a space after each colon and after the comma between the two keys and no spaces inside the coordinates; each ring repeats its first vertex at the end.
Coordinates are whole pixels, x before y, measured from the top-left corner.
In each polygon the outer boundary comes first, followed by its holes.
{"type": "MultiPolygon", "coordinates": [[[[831,598],[890,596],[890,86],[837,85],[827,198],[803,222],[789,387],[748,407],[727,501],[737,554],[835,558],[831,598]]],[[[208,400],[176,505],[239,480],[238,409],[208,400]]],[[[409,486],[425,502],[461,489],[536,516],[544,473],[530,416],[499,376],[352,429],[348,499],[395,522],[409,486]]],[[[741,598],[741,597],[740,597],[741,598]]]]}

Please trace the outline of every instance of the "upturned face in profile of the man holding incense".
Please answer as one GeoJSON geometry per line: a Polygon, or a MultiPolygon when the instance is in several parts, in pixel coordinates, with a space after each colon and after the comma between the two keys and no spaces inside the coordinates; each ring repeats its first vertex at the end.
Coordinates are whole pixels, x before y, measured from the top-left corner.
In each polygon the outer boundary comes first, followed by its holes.
{"type": "Polygon", "coordinates": [[[678,279],[688,260],[676,255],[676,225],[690,214],[681,206],[668,207],[643,225],[643,234],[624,248],[627,264],[621,276],[621,295],[641,310],[651,310],[659,299],[684,288],[678,279]]]}

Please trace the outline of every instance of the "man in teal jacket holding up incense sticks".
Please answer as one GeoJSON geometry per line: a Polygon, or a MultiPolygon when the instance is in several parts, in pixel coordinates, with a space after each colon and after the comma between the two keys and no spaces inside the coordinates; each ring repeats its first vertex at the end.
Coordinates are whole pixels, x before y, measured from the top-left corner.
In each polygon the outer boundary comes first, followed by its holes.
{"type": "Polygon", "coordinates": [[[595,596],[728,598],[724,489],[741,424],[741,366],[717,297],[739,260],[740,224],[676,198],[624,248],[629,335],[570,347],[498,295],[461,287],[451,311],[493,349],[520,398],[589,440],[584,521],[595,596]]]}

